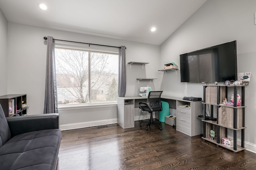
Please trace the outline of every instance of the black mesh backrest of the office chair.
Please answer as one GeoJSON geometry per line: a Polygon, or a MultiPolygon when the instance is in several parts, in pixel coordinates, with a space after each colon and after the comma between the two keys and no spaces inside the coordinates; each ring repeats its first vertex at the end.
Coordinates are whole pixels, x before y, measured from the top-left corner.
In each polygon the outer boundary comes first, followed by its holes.
{"type": "Polygon", "coordinates": [[[148,93],[147,103],[153,109],[153,111],[162,111],[161,94],[163,91],[151,91],[148,93]]]}

